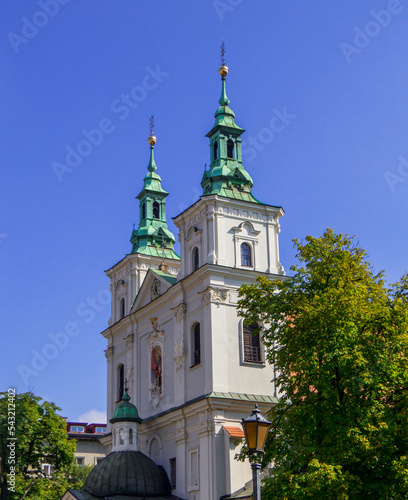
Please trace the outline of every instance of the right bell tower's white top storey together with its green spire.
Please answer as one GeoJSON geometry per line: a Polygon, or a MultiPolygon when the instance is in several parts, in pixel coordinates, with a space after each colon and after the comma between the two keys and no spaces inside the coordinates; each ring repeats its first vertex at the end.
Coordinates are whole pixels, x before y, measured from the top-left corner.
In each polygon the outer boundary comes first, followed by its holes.
{"type": "Polygon", "coordinates": [[[223,48],[218,73],[220,107],[207,134],[210,167],[201,180],[203,194],[198,203],[173,219],[180,231],[180,277],[203,264],[283,275],[278,234],[284,212],[252,194],[253,181],[242,162],[241,135],[245,130],[235,123],[227,97],[229,69],[223,48]]]}

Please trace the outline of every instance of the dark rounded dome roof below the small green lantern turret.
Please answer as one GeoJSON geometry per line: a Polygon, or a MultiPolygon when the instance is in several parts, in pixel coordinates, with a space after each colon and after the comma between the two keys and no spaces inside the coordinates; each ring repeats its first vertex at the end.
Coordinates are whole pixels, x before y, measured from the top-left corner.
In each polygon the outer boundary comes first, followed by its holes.
{"type": "Polygon", "coordinates": [[[110,453],[90,472],[84,490],[95,496],[170,495],[171,487],[163,467],[140,451],[110,453]]]}

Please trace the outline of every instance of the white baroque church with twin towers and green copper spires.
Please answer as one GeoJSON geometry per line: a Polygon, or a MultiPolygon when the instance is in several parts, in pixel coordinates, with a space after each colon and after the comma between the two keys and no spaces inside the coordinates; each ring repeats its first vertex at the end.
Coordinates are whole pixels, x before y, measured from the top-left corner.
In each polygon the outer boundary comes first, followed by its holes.
{"type": "MultiPolygon", "coordinates": [[[[107,340],[108,420],[125,389],[141,418],[138,446],[167,472],[172,493],[219,500],[252,477],[234,460],[241,419],[276,402],[274,368],[259,336],[237,315],[238,289],[258,275],[284,276],[281,207],[259,202],[242,163],[241,134],[226,94],[228,69],[210,140],[200,199],[174,217],[180,256],[166,222],[166,197],[149,137],[139,226],[132,251],[107,271],[112,294],[107,340]]],[[[163,175],[164,172],[163,172],[163,175]]],[[[117,426],[116,426],[117,427],[117,426]]],[[[102,442],[126,445],[108,424],[102,442]]],[[[127,448],[130,449],[130,448],[127,448]]]]}

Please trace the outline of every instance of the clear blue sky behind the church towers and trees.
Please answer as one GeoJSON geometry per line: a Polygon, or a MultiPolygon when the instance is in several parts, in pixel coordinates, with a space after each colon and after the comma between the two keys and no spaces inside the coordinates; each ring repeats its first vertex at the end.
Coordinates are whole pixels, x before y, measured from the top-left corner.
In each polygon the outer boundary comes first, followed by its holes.
{"type": "Polygon", "coordinates": [[[222,40],[253,193],[286,212],[285,269],[293,238],[332,227],[398,280],[407,33],[399,0],[2,0],[1,389],[70,420],[105,411],[104,270],[131,250],[149,117],[170,219],[201,193],[222,40]]]}

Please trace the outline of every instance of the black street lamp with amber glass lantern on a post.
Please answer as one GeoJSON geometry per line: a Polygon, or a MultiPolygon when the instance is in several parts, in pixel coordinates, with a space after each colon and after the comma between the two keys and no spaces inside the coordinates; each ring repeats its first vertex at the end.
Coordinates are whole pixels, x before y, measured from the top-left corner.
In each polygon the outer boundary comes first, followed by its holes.
{"type": "MultiPolygon", "coordinates": [[[[255,405],[255,409],[246,420],[242,419],[245,441],[250,456],[255,453],[264,452],[266,436],[270,425],[271,422],[268,422],[268,420],[261,415],[261,412],[258,410],[258,405],[255,405]]],[[[261,464],[255,460],[251,462],[251,468],[254,485],[254,500],[261,500],[261,464]]]]}

